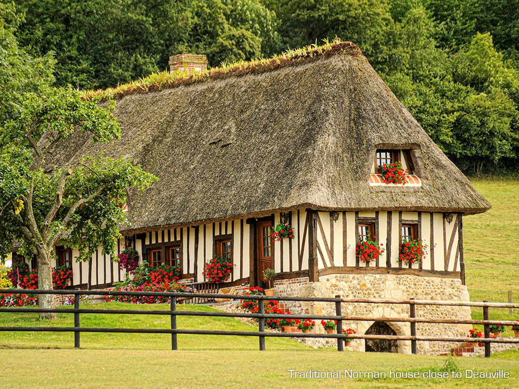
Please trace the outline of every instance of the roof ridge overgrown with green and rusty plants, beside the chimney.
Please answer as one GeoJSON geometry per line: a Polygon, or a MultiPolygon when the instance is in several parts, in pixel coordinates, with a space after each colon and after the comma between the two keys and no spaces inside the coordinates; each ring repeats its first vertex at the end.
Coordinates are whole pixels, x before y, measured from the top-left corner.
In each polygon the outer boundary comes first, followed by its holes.
{"type": "Polygon", "coordinates": [[[147,77],[139,78],[128,84],[118,85],[116,88],[98,89],[97,91],[87,90],[83,92],[83,96],[86,100],[101,103],[107,100],[120,100],[126,95],[135,93],[154,92],[177,88],[182,85],[198,84],[209,80],[271,72],[286,66],[329,58],[338,53],[350,54],[353,57],[358,57],[361,54],[361,50],[357,45],[349,41],[342,41],[338,37],[335,37],[331,42],[327,39],[323,39],[323,41],[324,44],[321,46],[312,44],[301,49],[288,50],[268,59],[261,58],[252,61],[234,61],[232,63],[224,61],[220,67],[213,67],[205,71],[194,73],[188,73],[187,71],[152,73],[147,77]]]}

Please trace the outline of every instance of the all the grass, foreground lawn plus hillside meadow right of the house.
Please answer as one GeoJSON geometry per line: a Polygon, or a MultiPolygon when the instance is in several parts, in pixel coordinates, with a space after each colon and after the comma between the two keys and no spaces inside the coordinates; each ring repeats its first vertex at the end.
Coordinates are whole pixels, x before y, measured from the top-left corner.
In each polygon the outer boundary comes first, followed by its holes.
{"type": "MultiPolygon", "coordinates": [[[[471,300],[507,301],[507,290],[519,302],[519,181],[473,179],[473,185],[493,204],[480,215],[463,219],[466,280],[471,300]]],[[[95,308],[142,309],[143,305],[98,304],[95,308]]],[[[82,305],[87,307],[87,305],[82,305]]],[[[180,308],[181,307],[181,308],[180,308]]],[[[183,310],[211,310],[181,305],[183,310]]],[[[150,307],[147,307],[150,308],[150,307]]],[[[167,310],[166,305],[153,309],[167,310]]],[[[151,308],[150,308],[151,309],[151,308]]],[[[481,309],[472,317],[481,319],[481,309]]],[[[490,310],[492,319],[517,319],[519,312],[490,310]]],[[[250,330],[232,318],[177,318],[179,328],[250,330]]],[[[0,325],[73,326],[73,315],[60,314],[51,323],[36,314],[0,313],[0,325]]],[[[84,327],[168,328],[167,316],[81,315],[84,327]]],[[[511,331],[503,334],[510,336],[511,331]]],[[[455,358],[378,353],[337,353],[314,350],[291,339],[258,339],[179,335],[179,350],[171,337],[158,334],[81,334],[81,350],[73,349],[72,333],[0,332],[0,388],[508,388],[519,389],[519,351],[485,358],[455,358]],[[289,369],[308,372],[341,371],[341,378],[290,378],[289,369]],[[386,378],[345,378],[345,370],[385,372],[386,378]],[[389,372],[417,373],[419,378],[390,378],[389,372]],[[449,378],[424,378],[447,371],[449,378]],[[462,378],[453,378],[452,370],[462,378]],[[510,378],[464,378],[467,371],[508,372],[510,378]]],[[[469,373],[470,374],[470,373],[469,373]]]]}

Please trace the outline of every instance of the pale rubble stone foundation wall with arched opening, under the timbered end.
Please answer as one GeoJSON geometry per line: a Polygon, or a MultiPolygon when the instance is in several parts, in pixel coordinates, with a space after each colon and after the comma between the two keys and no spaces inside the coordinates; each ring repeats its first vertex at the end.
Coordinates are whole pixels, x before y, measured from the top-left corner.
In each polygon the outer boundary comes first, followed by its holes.
{"type": "MultiPolygon", "coordinates": [[[[290,280],[291,281],[291,280],[290,280]]],[[[420,277],[415,275],[392,274],[331,274],[319,277],[319,282],[285,283],[276,285],[277,296],[333,297],[365,299],[417,299],[469,301],[467,287],[457,279],[420,277]]],[[[335,315],[335,303],[311,303],[287,301],[285,306],[294,314],[335,315]]],[[[343,316],[364,317],[409,317],[407,304],[343,303],[343,316]]],[[[470,319],[470,307],[444,307],[416,305],[416,317],[470,319]]],[[[357,334],[365,334],[374,321],[343,322],[343,329],[352,328],[357,334]]],[[[411,335],[409,323],[387,322],[397,335],[411,335]]],[[[417,336],[466,337],[470,325],[417,323],[417,336]]],[[[323,332],[317,323],[317,332],[323,332]]],[[[326,344],[325,344],[326,343],[326,344]]],[[[322,345],[330,341],[323,341],[322,345]]],[[[336,345],[336,343],[335,343],[336,345]]],[[[419,354],[440,354],[450,351],[457,343],[417,342],[419,354]]],[[[352,342],[354,350],[364,351],[365,342],[352,342]]],[[[399,353],[411,353],[411,341],[398,341],[399,353]]]]}

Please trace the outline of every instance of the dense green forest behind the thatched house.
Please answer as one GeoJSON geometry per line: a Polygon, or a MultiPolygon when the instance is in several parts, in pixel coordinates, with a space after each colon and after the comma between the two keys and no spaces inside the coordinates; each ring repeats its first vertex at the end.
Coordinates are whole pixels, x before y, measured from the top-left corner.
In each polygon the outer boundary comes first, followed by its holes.
{"type": "Polygon", "coordinates": [[[12,107],[11,113],[3,109],[0,124],[13,117],[20,93],[40,84],[114,87],[166,70],[169,55],[177,53],[207,54],[209,65],[218,66],[337,35],[361,48],[461,170],[517,175],[517,0],[0,0],[0,5],[0,103],[12,107]]]}

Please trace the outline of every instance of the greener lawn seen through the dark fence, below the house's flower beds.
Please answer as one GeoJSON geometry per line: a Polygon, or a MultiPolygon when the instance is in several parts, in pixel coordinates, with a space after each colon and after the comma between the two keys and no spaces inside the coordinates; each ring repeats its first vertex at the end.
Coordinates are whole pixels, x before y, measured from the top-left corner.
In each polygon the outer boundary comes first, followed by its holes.
{"type": "MultiPolygon", "coordinates": [[[[81,304],[81,308],[90,309],[134,309],[134,310],[169,310],[169,304],[126,304],[111,302],[106,304],[81,304]]],[[[177,305],[181,311],[215,311],[203,305],[177,305]]],[[[41,321],[36,313],[0,312],[0,323],[11,326],[53,326],[73,327],[73,314],[58,314],[55,321],[41,321]]],[[[116,314],[81,314],[81,327],[112,328],[171,328],[170,317],[166,315],[116,315],[116,314]]],[[[177,328],[257,331],[257,327],[242,323],[230,317],[178,316],[177,328]]],[[[168,334],[110,334],[82,332],[81,348],[95,349],[130,349],[130,350],[171,350],[171,335],[168,334]]],[[[259,350],[256,337],[217,336],[217,335],[177,335],[179,350],[259,350]]],[[[307,350],[308,346],[300,342],[267,338],[267,350],[307,350]]],[[[74,348],[73,332],[0,332],[0,348],[74,348]]],[[[1,387],[1,386],[0,386],[1,387]]]]}

